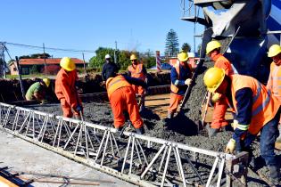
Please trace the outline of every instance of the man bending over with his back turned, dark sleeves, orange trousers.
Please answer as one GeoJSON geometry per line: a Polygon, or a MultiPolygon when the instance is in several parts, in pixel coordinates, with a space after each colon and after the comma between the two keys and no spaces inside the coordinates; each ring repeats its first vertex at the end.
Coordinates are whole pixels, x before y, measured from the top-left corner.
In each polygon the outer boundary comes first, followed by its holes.
{"type": "Polygon", "coordinates": [[[128,112],[129,119],[136,128],[136,134],[145,134],[144,122],[140,118],[136,94],[131,84],[146,87],[145,82],[140,79],[117,75],[114,72],[109,74],[106,80],[106,90],[112,106],[114,126],[119,132],[122,132],[125,124],[124,112],[128,112]]]}

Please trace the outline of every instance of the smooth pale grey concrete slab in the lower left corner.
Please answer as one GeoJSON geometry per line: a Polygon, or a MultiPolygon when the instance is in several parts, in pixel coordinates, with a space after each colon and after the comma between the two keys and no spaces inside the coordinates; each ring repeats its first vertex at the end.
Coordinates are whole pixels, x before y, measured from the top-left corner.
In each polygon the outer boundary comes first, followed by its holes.
{"type": "MultiPolygon", "coordinates": [[[[0,168],[9,167],[14,172],[37,173],[42,175],[65,175],[85,178],[91,181],[79,183],[99,183],[99,186],[135,186],[111,175],[103,174],[95,169],[86,167],[78,162],[66,159],[52,151],[45,150],[35,144],[21,140],[0,130],[0,168]],[[96,180],[96,182],[95,182],[96,180]],[[101,183],[108,181],[110,183],[101,183]]],[[[55,187],[63,185],[63,180],[35,175],[21,175],[24,178],[36,178],[43,181],[62,183],[30,183],[30,186],[55,187]]],[[[1,183],[0,183],[1,184],[1,183]]],[[[1,185],[0,185],[1,186],[1,185]]],[[[93,186],[68,184],[67,186],[93,186]]]]}

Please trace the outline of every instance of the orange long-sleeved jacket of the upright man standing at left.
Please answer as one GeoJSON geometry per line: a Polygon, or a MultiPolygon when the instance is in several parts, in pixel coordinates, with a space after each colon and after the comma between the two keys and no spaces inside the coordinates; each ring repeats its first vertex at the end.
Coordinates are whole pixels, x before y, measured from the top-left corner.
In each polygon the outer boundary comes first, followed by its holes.
{"type": "Polygon", "coordinates": [[[65,99],[72,108],[79,104],[75,82],[78,80],[76,70],[66,71],[61,69],[55,78],[54,93],[61,100],[65,99]]]}

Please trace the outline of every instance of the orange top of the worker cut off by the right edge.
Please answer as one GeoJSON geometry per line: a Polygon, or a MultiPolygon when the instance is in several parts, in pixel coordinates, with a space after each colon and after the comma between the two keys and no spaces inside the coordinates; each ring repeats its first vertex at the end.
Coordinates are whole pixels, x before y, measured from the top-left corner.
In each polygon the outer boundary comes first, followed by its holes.
{"type": "Polygon", "coordinates": [[[270,65],[267,88],[281,102],[281,66],[277,66],[275,62],[272,62],[270,65]]]}

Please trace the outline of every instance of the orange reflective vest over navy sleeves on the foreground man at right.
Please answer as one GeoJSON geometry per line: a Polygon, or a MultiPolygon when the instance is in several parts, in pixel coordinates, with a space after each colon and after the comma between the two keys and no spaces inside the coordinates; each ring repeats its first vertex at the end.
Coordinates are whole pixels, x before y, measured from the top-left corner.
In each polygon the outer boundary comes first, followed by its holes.
{"type": "Polygon", "coordinates": [[[252,89],[252,119],[249,126],[250,134],[258,134],[262,126],[266,125],[277,114],[280,105],[276,97],[273,97],[266,86],[253,77],[232,75],[231,93],[233,104],[236,108],[236,92],[244,87],[252,89]]]}

